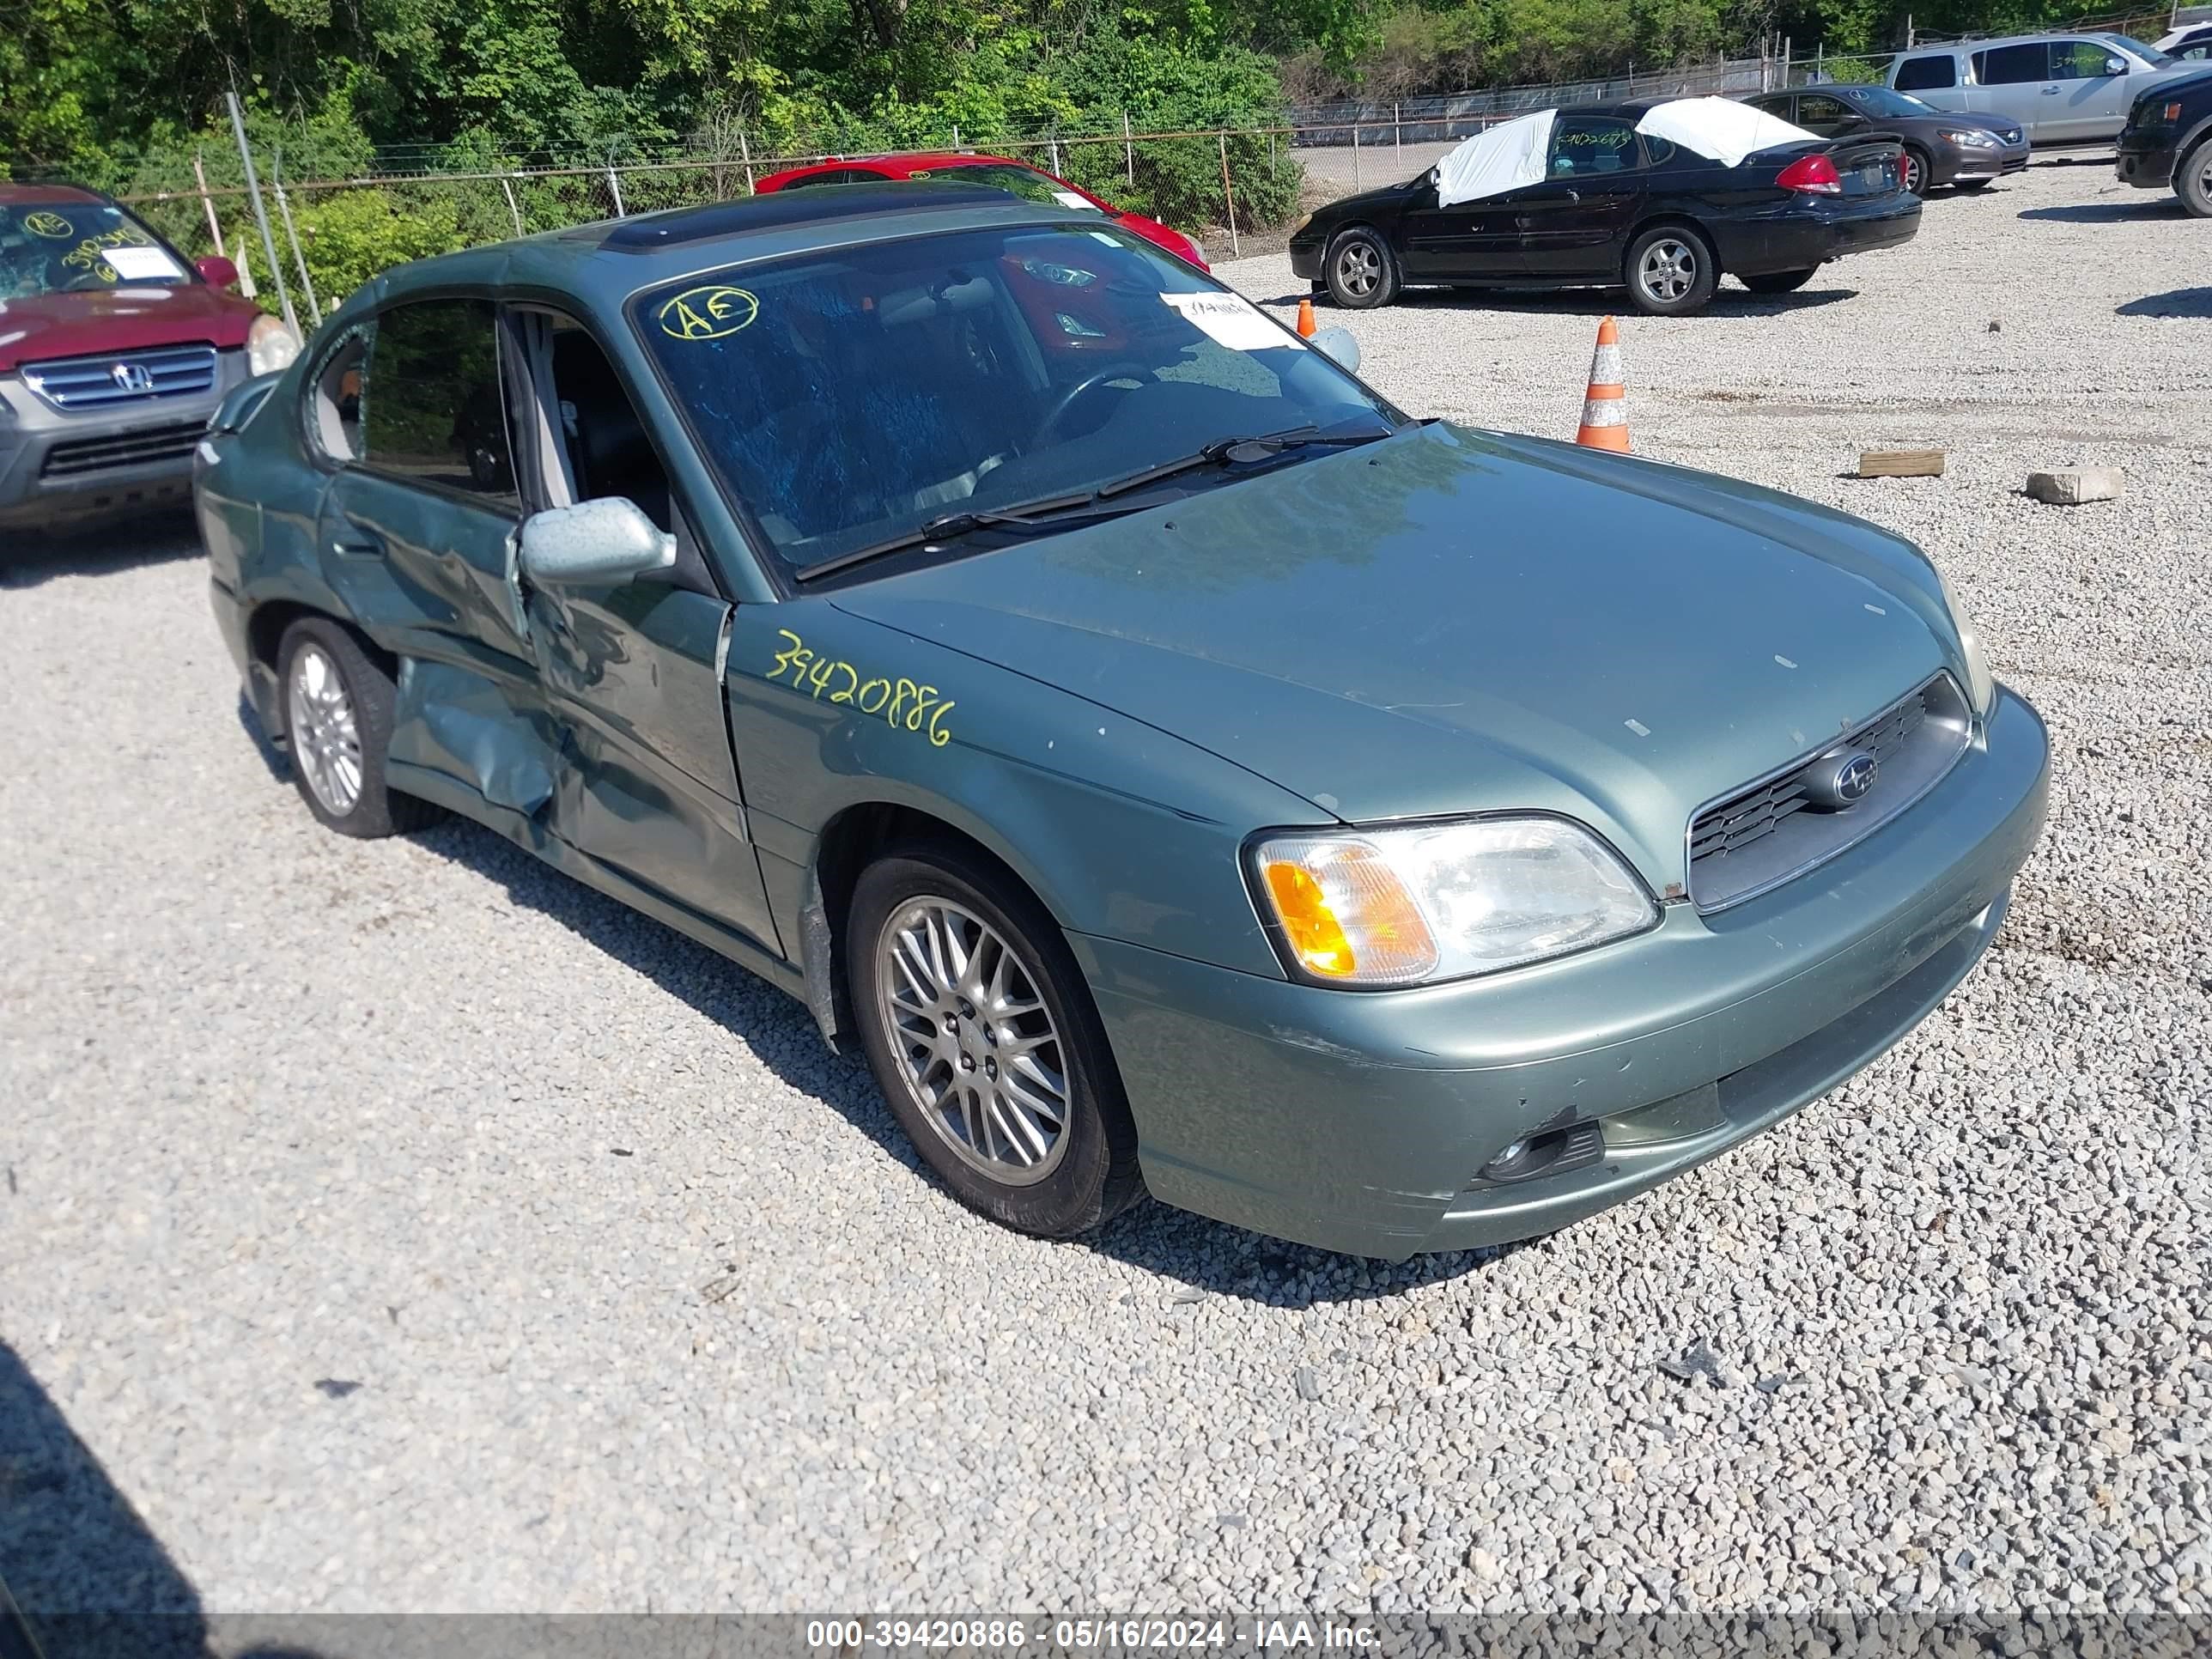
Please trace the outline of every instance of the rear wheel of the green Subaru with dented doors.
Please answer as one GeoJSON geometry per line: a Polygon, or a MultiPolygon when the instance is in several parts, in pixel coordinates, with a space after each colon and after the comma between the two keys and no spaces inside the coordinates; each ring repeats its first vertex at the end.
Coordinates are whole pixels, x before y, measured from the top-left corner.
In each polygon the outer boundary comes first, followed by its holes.
{"type": "Polygon", "coordinates": [[[392,675],[327,617],[301,617],[276,646],[292,783],[341,836],[392,836],[436,823],[429,801],[385,787],[392,675]]]}

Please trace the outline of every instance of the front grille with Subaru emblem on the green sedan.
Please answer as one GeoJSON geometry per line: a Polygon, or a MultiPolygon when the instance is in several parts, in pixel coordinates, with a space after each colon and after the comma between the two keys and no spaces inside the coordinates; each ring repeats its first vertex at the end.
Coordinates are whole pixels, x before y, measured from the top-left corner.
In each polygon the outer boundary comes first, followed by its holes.
{"type": "Polygon", "coordinates": [[[1843,741],[1705,807],[1690,821],[1690,898],[1699,909],[1723,909],[1863,841],[1951,770],[1971,726],[1966,699],[1949,675],[1938,675],[1843,741]],[[1874,790],[1849,807],[1820,810],[1805,774],[1843,750],[1874,757],[1874,790]]]}

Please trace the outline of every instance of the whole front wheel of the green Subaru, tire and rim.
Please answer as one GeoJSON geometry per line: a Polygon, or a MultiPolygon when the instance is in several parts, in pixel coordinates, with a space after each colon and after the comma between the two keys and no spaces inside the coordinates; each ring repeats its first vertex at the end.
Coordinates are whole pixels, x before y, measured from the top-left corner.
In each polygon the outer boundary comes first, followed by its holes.
{"type": "Polygon", "coordinates": [[[876,1084],[973,1210],[1068,1239],[1144,1192],[1106,1029],[1046,909],[949,845],[854,887],[845,984],[876,1084]]]}

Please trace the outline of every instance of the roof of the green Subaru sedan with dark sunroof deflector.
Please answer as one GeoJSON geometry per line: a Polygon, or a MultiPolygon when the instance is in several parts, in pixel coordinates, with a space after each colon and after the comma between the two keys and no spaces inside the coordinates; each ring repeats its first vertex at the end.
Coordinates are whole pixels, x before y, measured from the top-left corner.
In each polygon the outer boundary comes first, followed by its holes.
{"type": "Polygon", "coordinates": [[[730,265],[905,241],[951,230],[1079,226],[1095,212],[1022,201],[973,184],[847,184],[670,208],[628,219],[546,230],[518,241],[418,259],[369,279],[345,310],[367,310],[429,290],[551,290],[613,307],[641,288],[730,265]]]}

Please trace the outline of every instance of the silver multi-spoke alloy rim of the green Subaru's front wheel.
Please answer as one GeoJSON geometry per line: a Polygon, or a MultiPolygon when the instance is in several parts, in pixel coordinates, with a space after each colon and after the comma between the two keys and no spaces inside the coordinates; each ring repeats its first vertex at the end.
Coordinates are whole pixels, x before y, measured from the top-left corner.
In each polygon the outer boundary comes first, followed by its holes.
{"type": "Polygon", "coordinates": [[[922,1119],[1004,1186],[1051,1175],[1068,1148],[1068,1062],[1037,973],[949,898],[911,898],[876,940],[876,1000],[922,1119]]]}

